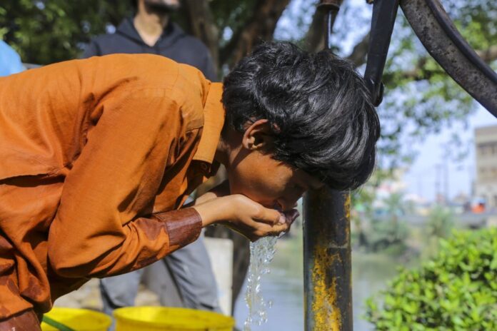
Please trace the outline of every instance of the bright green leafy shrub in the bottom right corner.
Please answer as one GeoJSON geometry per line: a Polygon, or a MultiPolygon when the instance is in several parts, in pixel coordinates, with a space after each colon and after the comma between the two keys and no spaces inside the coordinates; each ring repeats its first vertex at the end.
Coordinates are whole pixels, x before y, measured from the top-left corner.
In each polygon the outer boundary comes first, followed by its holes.
{"type": "Polygon", "coordinates": [[[497,228],[441,240],[435,258],[366,305],[376,330],[497,330],[497,228]]]}

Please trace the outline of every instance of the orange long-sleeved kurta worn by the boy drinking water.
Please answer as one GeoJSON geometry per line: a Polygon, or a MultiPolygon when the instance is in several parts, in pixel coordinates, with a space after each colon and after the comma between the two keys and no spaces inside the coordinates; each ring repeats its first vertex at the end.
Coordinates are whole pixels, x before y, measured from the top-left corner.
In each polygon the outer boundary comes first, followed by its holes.
{"type": "Polygon", "coordinates": [[[195,240],[222,86],[116,54],[0,78],[0,320],[195,240]]]}

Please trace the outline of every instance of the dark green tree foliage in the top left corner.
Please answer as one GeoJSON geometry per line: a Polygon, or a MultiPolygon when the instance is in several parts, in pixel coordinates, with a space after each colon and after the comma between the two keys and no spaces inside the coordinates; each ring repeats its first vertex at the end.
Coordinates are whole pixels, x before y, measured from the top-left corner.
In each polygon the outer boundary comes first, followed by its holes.
{"type": "Polygon", "coordinates": [[[1,1],[0,36],[24,62],[49,64],[77,58],[91,36],[129,14],[129,1],[1,1]]]}

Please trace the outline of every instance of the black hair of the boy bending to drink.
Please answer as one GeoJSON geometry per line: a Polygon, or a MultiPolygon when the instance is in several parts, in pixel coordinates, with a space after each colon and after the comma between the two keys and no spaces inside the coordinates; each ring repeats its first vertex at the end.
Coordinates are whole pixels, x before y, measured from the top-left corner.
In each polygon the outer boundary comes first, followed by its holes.
{"type": "Polygon", "coordinates": [[[311,54],[287,42],[256,47],[224,78],[227,128],[243,132],[265,118],[273,158],[316,176],[331,188],[368,180],[380,135],[363,78],[331,51],[311,54]]]}

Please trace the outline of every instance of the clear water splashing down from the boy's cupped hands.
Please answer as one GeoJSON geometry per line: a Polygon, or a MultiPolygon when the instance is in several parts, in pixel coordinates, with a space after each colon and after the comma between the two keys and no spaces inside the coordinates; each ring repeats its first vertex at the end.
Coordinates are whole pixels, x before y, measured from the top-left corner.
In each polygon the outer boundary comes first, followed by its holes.
{"type": "Polygon", "coordinates": [[[267,322],[267,308],[273,302],[266,301],[261,293],[261,275],[271,272],[269,264],[276,253],[277,237],[264,237],[250,243],[250,267],[247,277],[245,302],[249,307],[249,316],[245,320],[244,331],[251,331],[251,325],[262,325],[267,322]]]}

